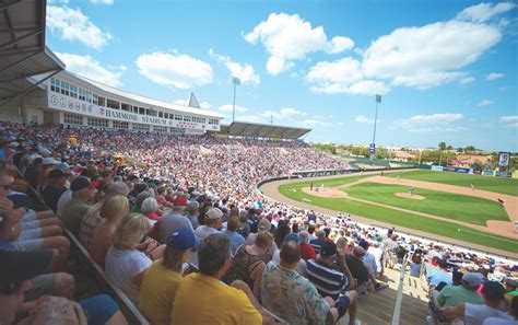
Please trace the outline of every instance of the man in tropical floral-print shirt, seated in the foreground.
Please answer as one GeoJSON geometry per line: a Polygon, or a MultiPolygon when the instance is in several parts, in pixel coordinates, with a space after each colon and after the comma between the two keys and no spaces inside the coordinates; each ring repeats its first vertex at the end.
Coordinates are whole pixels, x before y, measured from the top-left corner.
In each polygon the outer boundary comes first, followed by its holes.
{"type": "Polygon", "coordinates": [[[281,262],[270,262],[262,275],[261,299],[266,309],[290,324],[334,324],[345,311],[338,311],[331,298],[322,298],[315,286],[297,272],[301,248],[286,241],[281,262]]]}

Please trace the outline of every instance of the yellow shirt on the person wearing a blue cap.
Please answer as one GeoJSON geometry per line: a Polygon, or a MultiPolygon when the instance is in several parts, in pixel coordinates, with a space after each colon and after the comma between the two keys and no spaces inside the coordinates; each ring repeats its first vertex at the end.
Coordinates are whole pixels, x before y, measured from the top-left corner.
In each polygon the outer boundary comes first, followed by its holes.
{"type": "Polygon", "coordinates": [[[181,281],[181,276],[165,268],[162,259],[145,271],[140,287],[139,309],[153,325],[169,325],[176,290],[181,281]]]}

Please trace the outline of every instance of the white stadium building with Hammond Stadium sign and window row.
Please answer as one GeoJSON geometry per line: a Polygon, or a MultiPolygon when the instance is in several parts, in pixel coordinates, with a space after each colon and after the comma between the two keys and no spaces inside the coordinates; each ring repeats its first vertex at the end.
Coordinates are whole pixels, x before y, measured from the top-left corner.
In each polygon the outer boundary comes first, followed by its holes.
{"type": "MultiPolygon", "coordinates": [[[[222,117],[201,109],[191,94],[187,105],[162,102],[89,80],[67,71],[44,81],[16,109],[24,123],[55,123],[167,134],[220,131],[222,117]]],[[[14,103],[13,103],[14,104],[14,103]]]]}

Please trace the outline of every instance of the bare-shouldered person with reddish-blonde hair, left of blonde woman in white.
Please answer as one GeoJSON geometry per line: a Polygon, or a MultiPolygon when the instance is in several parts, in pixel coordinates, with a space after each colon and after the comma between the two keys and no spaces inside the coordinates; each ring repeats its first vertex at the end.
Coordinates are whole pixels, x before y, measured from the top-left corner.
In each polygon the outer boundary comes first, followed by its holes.
{"type": "Polygon", "coordinates": [[[111,237],[120,222],[128,217],[129,201],[125,196],[116,195],[106,198],[101,207],[103,222],[95,229],[90,245],[92,259],[104,268],[106,253],[111,246],[111,237]]]}

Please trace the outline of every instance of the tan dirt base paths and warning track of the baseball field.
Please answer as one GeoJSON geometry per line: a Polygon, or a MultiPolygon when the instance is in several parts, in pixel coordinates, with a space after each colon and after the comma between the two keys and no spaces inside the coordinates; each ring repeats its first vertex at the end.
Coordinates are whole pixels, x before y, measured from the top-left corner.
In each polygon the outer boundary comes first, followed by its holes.
{"type": "MultiPolygon", "coordinates": [[[[357,176],[357,174],[352,174],[350,176],[357,176]]],[[[339,177],[339,176],[333,176],[333,177],[328,177],[328,178],[337,178],[337,177],[339,177]]],[[[344,175],[341,175],[340,177],[344,177],[344,175]]],[[[501,198],[510,197],[510,198],[516,200],[516,198],[513,197],[513,196],[494,194],[494,193],[486,191],[486,190],[478,190],[478,189],[472,190],[470,188],[452,186],[452,185],[445,185],[445,184],[436,184],[436,183],[433,183],[432,184],[433,186],[427,186],[431,183],[421,182],[421,181],[412,181],[412,179],[404,179],[403,181],[402,178],[398,182],[397,178],[385,177],[385,176],[373,176],[373,177],[368,177],[368,178],[363,178],[363,179],[360,179],[358,182],[353,182],[353,183],[350,183],[350,184],[345,184],[345,185],[342,185],[340,187],[353,186],[355,184],[364,183],[364,182],[373,182],[373,179],[377,181],[378,178],[382,179],[382,182],[378,182],[378,183],[385,183],[385,184],[399,184],[399,185],[437,189],[437,190],[451,191],[451,193],[457,193],[457,189],[460,188],[460,189],[466,189],[466,191],[471,193],[472,195],[480,194],[480,193],[484,193],[484,194],[490,193],[490,194],[494,195],[495,197],[501,197],[501,198]],[[386,181],[386,179],[388,179],[388,181],[386,181]],[[392,179],[393,179],[393,183],[391,183],[392,179]],[[386,182],[384,182],[384,181],[386,181],[386,182]],[[410,181],[410,182],[405,182],[405,181],[410,181]],[[412,184],[412,182],[419,182],[420,185],[417,185],[415,183],[412,184]],[[423,183],[424,185],[422,186],[421,183],[423,183]],[[435,185],[437,185],[437,186],[435,186],[435,185]],[[446,186],[446,187],[449,187],[449,190],[445,190],[442,187],[443,185],[446,186]]],[[[323,178],[315,178],[315,179],[323,181],[323,178]]],[[[301,182],[301,181],[302,179],[274,181],[274,182],[263,184],[261,186],[261,190],[266,196],[268,196],[268,197],[270,197],[274,200],[278,200],[278,201],[294,206],[294,207],[298,207],[298,208],[302,208],[302,209],[315,210],[319,213],[323,213],[323,214],[328,214],[328,216],[337,216],[338,213],[342,212],[342,211],[337,211],[337,210],[331,210],[331,209],[326,209],[326,208],[321,208],[321,207],[318,207],[318,206],[314,206],[310,202],[301,202],[301,201],[297,201],[297,200],[293,200],[293,199],[287,198],[287,197],[285,197],[285,196],[283,196],[282,194],[279,193],[279,186],[280,185],[289,184],[289,183],[297,183],[297,182],[301,182]]],[[[307,181],[307,179],[304,179],[304,181],[307,181]]],[[[466,195],[469,195],[468,193],[466,195]]],[[[315,195],[315,191],[313,190],[308,194],[315,195]]],[[[321,196],[323,196],[325,191],[321,191],[320,194],[321,194],[321,196]]],[[[460,193],[460,194],[464,194],[464,193],[460,193]]],[[[475,195],[475,196],[487,198],[487,197],[484,197],[482,195],[475,195]]],[[[348,197],[348,196],[344,196],[344,198],[353,199],[353,198],[348,197]]],[[[360,199],[354,199],[354,200],[360,200],[360,199]]],[[[364,202],[369,204],[369,205],[374,204],[372,201],[364,201],[364,202]]],[[[506,205],[507,204],[508,204],[508,201],[506,201],[506,205]]],[[[374,204],[374,205],[377,205],[377,204],[374,204]]],[[[381,206],[384,206],[384,205],[381,205],[381,206]]],[[[395,207],[391,207],[391,206],[385,206],[385,207],[387,207],[389,209],[395,209],[395,207]]],[[[398,208],[396,208],[396,209],[398,209],[398,208]]],[[[404,210],[404,209],[402,209],[402,210],[404,210]]],[[[409,212],[409,213],[413,213],[413,214],[421,214],[420,212],[415,212],[415,211],[409,211],[409,210],[404,210],[404,211],[409,212]]],[[[460,221],[456,222],[455,220],[450,220],[450,219],[446,219],[446,218],[440,218],[440,217],[431,216],[431,214],[426,214],[426,213],[423,213],[423,214],[425,214],[427,218],[432,217],[434,219],[440,219],[440,220],[448,221],[448,222],[460,223],[460,221]]],[[[364,224],[376,224],[376,225],[380,225],[380,227],[385,227],[385,228],[392,228],[393,227],[393,224],[388,223],[388,222],[366,219],[366,218],[362,218],[361,216],[360,217],[358,216],[353,216],[353,217],[354,217],[354,221],[360,222],[360,223],[364,223],[364,224]]],[[[516,214],[515,214],[515,218],[516,218],[516,214]]],[[[491,221],[487,222],[488,228],[476,225],[476,224],[471,224],[471,223],[462,223],[462,224],[468,225],[468,227],[473,228],[473,229],[484,231],[486,233],[494,233],[494,234],[503,235],[504,232],[503,232],[502,228],[505,228],[507,224],[510,224],[511,222],[495,221],[495,223],[504,223],[504,224],[499,224],[499,229],[492,229],[492,222],[491,221]],[[496,231],[494,231],[494,230],[496,230],[496,231]]],[[[411,229],[411,228],[404,228],[404,227],[399,227],[398,225],[398,229],[400,231],[412,233],[412,234],[417,235],[417,236],[433,237],[433,239],[435,239],[437,241],[440,241],[440,242],[444,242],[444,243],[448,243],[448,244],[452,244],[452,245],[462,245],[464,247],[471,247],[471,248],[474,248],[474,249],[479,249],[481,252],[488,252],[488,253],[498,254],[498,255],[502,255],[502,256],[508,256],[508,257],[518,259],[518,254],[516,254],[516,253],[510,253],[510,252],[506,252],[506,251],[502,251],[502,249],[497,249],[497,248],[492,248],[492,247],[482,246],[482,245],[478,245],[478,244],[473,244],[473,243],[469,243],[469,242],[454,240],[454,239],[446,237],[446,236],[431,234],[431,233],[419,231],[419,230],[411,229]]],[[[506,229],[507,236],[513,236],[514,235],[511,231],[513,231],[513,227],[506,229]]]]}

